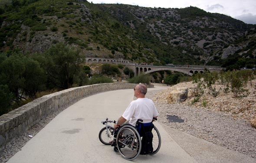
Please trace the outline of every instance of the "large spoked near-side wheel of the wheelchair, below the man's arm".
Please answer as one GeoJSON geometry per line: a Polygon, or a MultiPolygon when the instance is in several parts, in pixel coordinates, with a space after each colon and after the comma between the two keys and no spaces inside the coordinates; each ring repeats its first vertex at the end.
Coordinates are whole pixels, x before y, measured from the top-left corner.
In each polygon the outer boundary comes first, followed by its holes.
{"type": "Polygon", "coordinates": [[[117,134],[117,148],[126,160],[134,160],[141,152],[141,137],[135,127],[124,125],[117,134]]]}

